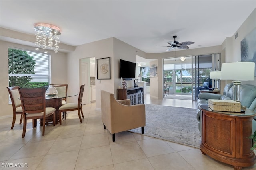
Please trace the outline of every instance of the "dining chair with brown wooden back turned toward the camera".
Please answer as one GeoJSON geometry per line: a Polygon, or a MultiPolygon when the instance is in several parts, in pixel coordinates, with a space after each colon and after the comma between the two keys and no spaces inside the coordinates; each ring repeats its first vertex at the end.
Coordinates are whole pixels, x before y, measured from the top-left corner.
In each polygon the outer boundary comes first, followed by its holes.
{"type": "Polygon", "coordinates": [[[20,92],[22,115],[23,115],[23,132],[22,138],[25,137],[27,119],[32,119],[33,128],[36,119],[43,119],[43,133],[45,129],[46,117],[52,115],[53,126],[55,126],[55,108],[46,107],[45,88],[18,88],[20,92]]]}

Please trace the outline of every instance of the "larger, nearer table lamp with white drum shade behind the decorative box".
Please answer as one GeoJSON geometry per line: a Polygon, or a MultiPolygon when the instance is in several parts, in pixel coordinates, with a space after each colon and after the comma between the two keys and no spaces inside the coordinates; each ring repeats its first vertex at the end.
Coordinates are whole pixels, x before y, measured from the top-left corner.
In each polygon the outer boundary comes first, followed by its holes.
{"type": "Polygon", "coordinates": [[[254,62],[231,62],[221,64],[221,80],[233,80],[234,99],[240,102],[241,81],[254,81],[254,62]]]}

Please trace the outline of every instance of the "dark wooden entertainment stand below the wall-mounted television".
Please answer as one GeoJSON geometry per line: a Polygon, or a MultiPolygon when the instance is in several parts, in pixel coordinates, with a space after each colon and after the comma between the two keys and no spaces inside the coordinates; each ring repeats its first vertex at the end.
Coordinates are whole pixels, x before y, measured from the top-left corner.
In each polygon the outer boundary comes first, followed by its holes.
{"type": "Polygon", "coordinates": [[[130,99],[131,105],[144,103],[143,87],[129,87],[117,89],[117,100],[130,99]]]}

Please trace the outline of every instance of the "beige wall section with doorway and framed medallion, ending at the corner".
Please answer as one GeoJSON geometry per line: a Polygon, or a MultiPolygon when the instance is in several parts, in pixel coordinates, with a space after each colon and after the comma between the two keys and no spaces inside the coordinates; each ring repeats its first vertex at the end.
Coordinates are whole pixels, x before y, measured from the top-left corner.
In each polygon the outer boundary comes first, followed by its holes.
{"type": "MultiPolygon", "coordinates": [[[[79,59],[95,57],[97,59],[110,57],[110,65],[113,66],[113,38],[103,39],[76,47],[74,52],[68,53],[67,58],[67,80],[68,88],[72,92],[79,92],[80,75],[79,75],[79,59]]],[[[111,76],[114,74],[114,67],[110,67],[111,76]]],[[[100,108],[100,90],[114,92],[114,79],[97,80],[97,72],[95,73],[95,88],[96,88],[96,108],[100,108]]],[[[77,96],[70,98],[71,102],[77,102],[77,96]]]]}

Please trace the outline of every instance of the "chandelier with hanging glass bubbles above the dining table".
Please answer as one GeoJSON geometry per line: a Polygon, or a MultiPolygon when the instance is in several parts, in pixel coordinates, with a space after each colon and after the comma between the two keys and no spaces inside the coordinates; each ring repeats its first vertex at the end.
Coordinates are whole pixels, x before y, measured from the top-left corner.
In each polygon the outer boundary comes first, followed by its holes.
{"type": "MultiPolygon", "coordinates": [[[[34,30],[36,31],[35,45],[37,51],[40,47],[42,49],[54,49],[56,54],[59,53],[58,48],[60,47],[58,44],[60,41],[58,36],[60,35],[60,28],[47,23],[37,23],[34,30]]],[[[44,50],[44,53],[48,53],[48,51],[44,50]]]]}

